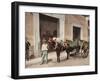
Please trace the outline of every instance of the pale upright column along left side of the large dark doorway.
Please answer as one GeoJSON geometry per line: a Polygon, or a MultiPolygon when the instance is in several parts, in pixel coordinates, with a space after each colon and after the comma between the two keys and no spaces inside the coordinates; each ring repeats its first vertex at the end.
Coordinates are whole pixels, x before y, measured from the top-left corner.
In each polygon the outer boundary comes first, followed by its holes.
{"type": "Polygon", "coordinates": [[[34,55],[40,56],[40,31],[39,31],[39,14],[33,13],[33,40],[34,40],[34,55]]]}

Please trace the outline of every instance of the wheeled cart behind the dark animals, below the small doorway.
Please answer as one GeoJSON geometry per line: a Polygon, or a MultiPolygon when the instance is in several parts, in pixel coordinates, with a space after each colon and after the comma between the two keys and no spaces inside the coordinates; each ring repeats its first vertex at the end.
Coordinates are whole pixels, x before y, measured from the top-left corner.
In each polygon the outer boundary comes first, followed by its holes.
{"type": "Polygon", "coordinates": [[[68,57],[71,56],[71,54],[73,56],[75,55],[79,55],[82,58],[86,58],[89,54],[89,43],[87,41],[84,40],[75,40],[75,41],[69,41],[67,40],[67,42],[65,43],[65,50],[68,54],[68,57]],[[67,46],[66,46],[67,43],[67,46]]]}

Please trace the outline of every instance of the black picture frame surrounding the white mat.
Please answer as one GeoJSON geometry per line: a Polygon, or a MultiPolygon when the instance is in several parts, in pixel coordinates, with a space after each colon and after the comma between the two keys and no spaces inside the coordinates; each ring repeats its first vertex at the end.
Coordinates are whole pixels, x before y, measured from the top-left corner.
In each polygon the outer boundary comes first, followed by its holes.
{"type": "Polygon", "coordinates": [[[31,2],[12,2],[11,4],[11,77],[14,79],[25,78],[43,78],[43,77],[58,77],[72,75],[88,75],[97,74],[97,7],[96,6],[81,6],[81,5],[65,5],[65,4],[49,4],[49,3],[31,3],[31,2]],[[92,9],[95,10],[95,71],[75,72],[75,73],[59,73],[59,74],[43,74],[43,75],[27,75],[19,76],[19,6],[40,6],[40,7],[57,7],[57,8],[72,8],[72,9],[92,9]]]}

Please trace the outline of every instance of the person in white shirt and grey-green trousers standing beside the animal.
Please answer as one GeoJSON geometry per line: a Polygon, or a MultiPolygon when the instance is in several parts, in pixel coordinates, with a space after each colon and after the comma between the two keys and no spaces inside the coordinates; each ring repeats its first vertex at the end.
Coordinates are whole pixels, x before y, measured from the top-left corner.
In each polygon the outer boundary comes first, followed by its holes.
{"type": "Polygon", "coordinates": [[[41,47],[41,51],[42,51],[42,62],[41,64],[43,64],[44,62],[48,63],[48,44],[46,43],[46,40],[43,40],[42,43],[42,47],[41,47]]]}

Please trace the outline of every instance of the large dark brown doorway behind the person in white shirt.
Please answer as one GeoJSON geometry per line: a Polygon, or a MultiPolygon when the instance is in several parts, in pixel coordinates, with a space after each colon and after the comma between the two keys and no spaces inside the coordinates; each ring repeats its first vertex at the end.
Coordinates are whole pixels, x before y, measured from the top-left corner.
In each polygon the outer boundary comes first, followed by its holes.
{"type": "Polygon", "coordinates": [[[59,37],[59,19],[44,14],[39,14],[40,41],[47,41],[53,37],[59,37]]]}

